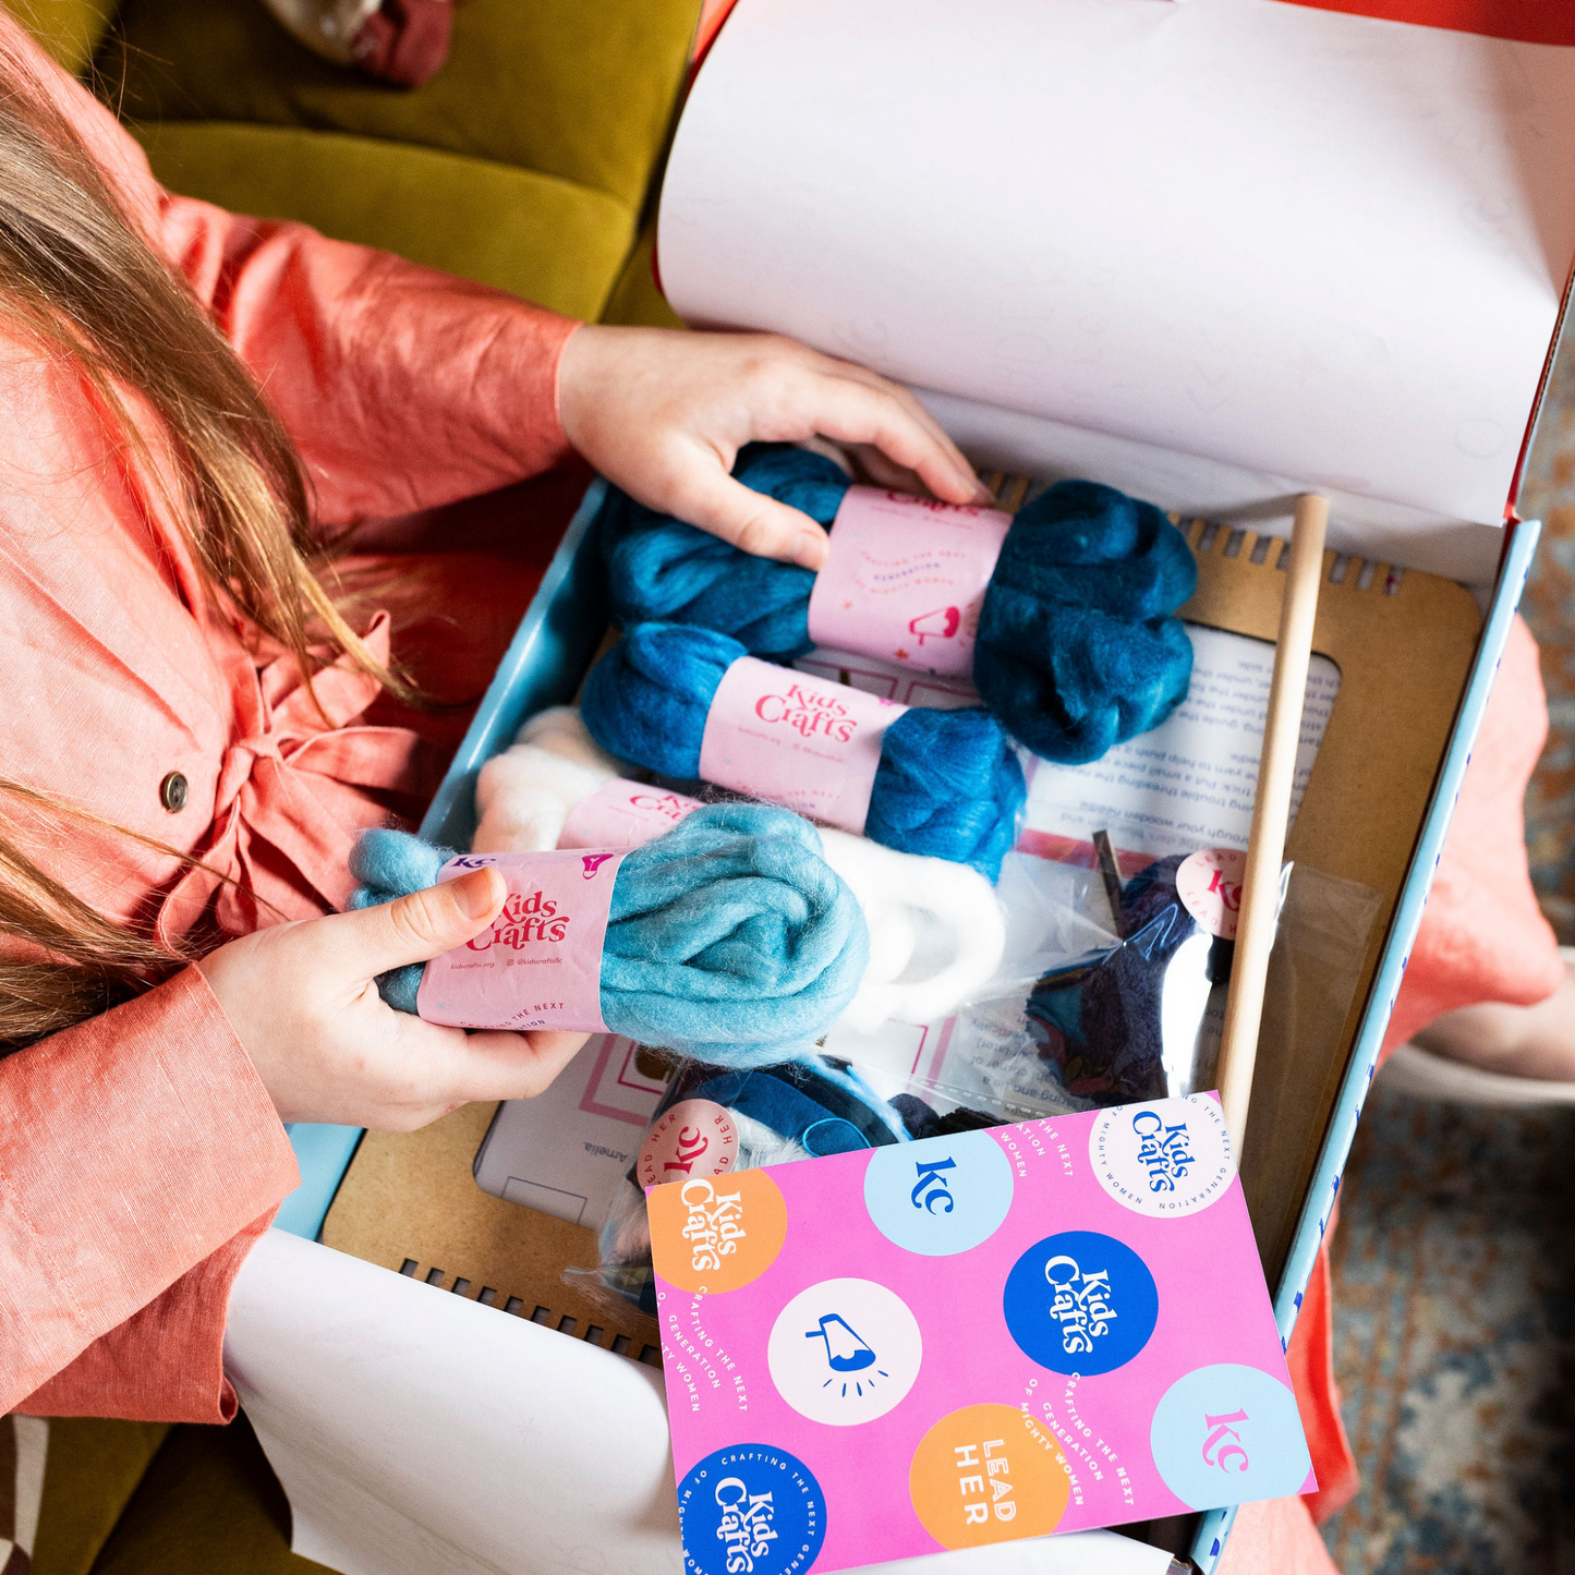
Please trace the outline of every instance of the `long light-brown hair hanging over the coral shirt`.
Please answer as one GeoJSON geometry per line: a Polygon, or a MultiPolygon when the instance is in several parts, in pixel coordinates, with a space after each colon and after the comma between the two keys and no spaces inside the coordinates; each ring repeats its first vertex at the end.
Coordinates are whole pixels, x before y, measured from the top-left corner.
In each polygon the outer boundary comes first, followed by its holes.
{"type": "MultiPolygon", "coordinates": [[[[313,536],[306,472],[257,383],[126,214],[27,60],[5,44],[0,323],[93,391],[139,471],[165,493],[217,606],[290,650],[309,684],[309,646],[323,643],[411,698],[318,580],[329,554],[313,536]],[[162,465],[151,463],[124,391],[162,425],[162,465]]],[[[107,920],[39,869],[22,846],[24,819],[55,835],[82,825],[120,832],[184,857],[0,775],[0,937],[25,943],[22,959],[0,961],[0,1055],[129,999],[187,961],[151,932],[107,920]]]]}

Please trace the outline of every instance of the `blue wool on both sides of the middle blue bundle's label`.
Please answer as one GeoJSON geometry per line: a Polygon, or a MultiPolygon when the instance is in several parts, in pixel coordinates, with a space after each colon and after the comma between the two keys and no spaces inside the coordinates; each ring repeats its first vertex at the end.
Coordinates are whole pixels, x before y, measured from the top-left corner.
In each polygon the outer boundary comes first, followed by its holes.
{"type": "MultiPolygon", "coordinates": [[[[710,628],[636,624],[591,669],[580,715],[610,754],[693,781],[712,696],[747,654],[710,628]]],[[[914,706],[885,731],[865,835],[994,880],[1025,797],[1022,764],[988,710],[914,706]]]]}

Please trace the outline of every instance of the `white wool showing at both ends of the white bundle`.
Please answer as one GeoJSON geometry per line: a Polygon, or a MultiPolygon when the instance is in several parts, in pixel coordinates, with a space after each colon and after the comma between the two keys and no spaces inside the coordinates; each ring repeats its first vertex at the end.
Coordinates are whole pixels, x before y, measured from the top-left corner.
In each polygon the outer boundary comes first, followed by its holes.
{"type": "MultiPolygon", "coordinates": [[[[482,767],[472,850],[556,847],[575,805],[619,775],[619,762],[595,743],[573,706],[540,712],[482,767]]],[[[821,841],[869,925],[869,967],[841,1019],[855,1032],[873,1033],[888,1019],[947,1017],[1000,967],[1006,921],[976,869],[828,827],[821,841]]]]}

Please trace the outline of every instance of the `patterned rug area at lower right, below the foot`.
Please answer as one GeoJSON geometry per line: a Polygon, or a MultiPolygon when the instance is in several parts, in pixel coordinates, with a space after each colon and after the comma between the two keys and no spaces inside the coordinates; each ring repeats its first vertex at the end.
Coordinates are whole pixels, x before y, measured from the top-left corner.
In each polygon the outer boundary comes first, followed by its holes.
{"type": "Polygon", "coordinates": [[[1343,1575],[1575,1572],[1575,1110],[1367,1104],[1334,1236],[1343,1575]]]}

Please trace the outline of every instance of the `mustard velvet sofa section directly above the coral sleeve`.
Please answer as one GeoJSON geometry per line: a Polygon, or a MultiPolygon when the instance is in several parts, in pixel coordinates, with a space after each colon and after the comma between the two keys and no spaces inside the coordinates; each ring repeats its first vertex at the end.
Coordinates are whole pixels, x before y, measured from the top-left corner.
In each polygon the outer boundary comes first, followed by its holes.
{"type": "Polygon", "coordinates": [[[299,219],[570,317],[600,315],[633,243],[625,203],[487,159],[279,126],[135,129],[172,191],[299,219]]]}

